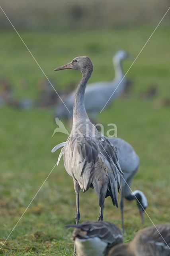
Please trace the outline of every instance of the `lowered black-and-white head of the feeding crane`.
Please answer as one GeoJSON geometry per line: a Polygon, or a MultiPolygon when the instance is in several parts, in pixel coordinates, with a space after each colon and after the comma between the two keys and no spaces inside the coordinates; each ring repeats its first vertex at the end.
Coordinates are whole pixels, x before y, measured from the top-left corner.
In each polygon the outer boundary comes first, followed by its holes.
{"type": "Polygon", "coordinates": [[[140,190],[133,191],[133,195],[136,198],[137,207],[139,209],[139,214],[141,216],[141,220],[142,220],[142,224],[143,224],[144,223],[144,212],[148,206],[147,198],[146,198],[145,194],[140,190]]]}

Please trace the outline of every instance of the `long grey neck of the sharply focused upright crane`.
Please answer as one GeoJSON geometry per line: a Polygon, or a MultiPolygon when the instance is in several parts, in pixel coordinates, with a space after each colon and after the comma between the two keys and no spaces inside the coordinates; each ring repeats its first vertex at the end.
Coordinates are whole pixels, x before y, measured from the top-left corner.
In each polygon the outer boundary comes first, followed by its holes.
{"type": "Polygon", "coordinates": [[[73,123],[80,119],[88,118],[86,113],[86,109],[84,106],[84,92],[86,89],[86,84],[93,72],[93,68],[90,66],[86,66],[86,68],[82,71],[82,79],[78,84],[75,98],[74,98],[74,107],[73,107],[73,123]]]}

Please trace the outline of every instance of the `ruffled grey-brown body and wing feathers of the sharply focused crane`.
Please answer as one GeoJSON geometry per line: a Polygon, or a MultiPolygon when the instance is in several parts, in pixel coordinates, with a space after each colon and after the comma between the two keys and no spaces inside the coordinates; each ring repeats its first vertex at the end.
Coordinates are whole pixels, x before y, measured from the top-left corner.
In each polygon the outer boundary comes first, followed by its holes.
{"type": "Polygon", "coordinates": [[[64,165],[84,192],[94,186],[100,206],[106,194],[117,206],[117,186],[120,190],[120,174],[123,172],[117,152],[106,137],[70,136],[64,146],[64,165]]]}

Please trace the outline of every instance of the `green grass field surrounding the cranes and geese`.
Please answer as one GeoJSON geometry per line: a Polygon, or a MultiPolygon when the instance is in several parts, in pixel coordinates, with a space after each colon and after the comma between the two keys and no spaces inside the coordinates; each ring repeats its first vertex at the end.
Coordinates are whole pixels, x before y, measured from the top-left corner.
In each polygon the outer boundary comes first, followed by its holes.
{"type": "MultiPolygon", "coordinates": [[[[124,70],[137,56],[152,27],[119,30],[86,30],[63,32],[20,32],[21,37],[37,59],[45,74],[57,88],[69,87],[80,80],[79,72],[52,72],[57,66],[80,55],[88,55],[94,63],[90,82],[111,80],[113,53],[122,48],[132,54],[124,70]]],[[[139,172],[132,190],[142,190],[148,198],[147,213],[154,224],[169,222],[170,218],[170,107],[159,102],[170,98],[170,34],[160,26],[129,71],[133,80],[131,94],[119,98],[98,120],[107,126],[117,125],[118,136],[130,142],[140,156],[139,172]],[[152,84],[158,95],[141,100],[140,94],[152,84]]],[[[38,96],[38,81],[43,73],[13,31],[0,34],[0,76],[14,85],[16,98],[38,96]],[[22,87],[26,81],[27,86],[22,87]]],[[[67,139],[55,134],[53,110],[18,110],[0,108],[0,241],[8,237],[14,225],[35,196],[39,187],[57,162],[59,152],[51,149],[67,139]]],[[[64,226],[74,222],[75,194],[72,178],[61,160],[25,212],[0,253],[12,256],[66,255],[73,252],[71,230],[64,226]]],[[[94,190],[80,193],[81,221],[96,220],[98,202],[94,190]]],[[[104,219],[121,227],[119,209],[106,199],[104,219]]],[[[145,226],[152,225],[145,215],[145,226]]],[[[135,202],[125,203],[125,242],[142,228],[135,202]]]]}

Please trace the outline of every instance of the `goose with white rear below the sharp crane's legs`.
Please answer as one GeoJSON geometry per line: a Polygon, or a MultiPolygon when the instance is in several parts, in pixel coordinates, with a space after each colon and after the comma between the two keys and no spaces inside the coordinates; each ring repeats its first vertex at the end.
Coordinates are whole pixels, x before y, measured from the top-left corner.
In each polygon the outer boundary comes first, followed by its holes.
{"type": "Polygon", "coordinates": [[[72,238],[75,241],[78,256],[106,256],[110,248],[123,243],[121,230],[115,224],[107,221],[87,221],[66,227],[75,228],[72,238]]]}

